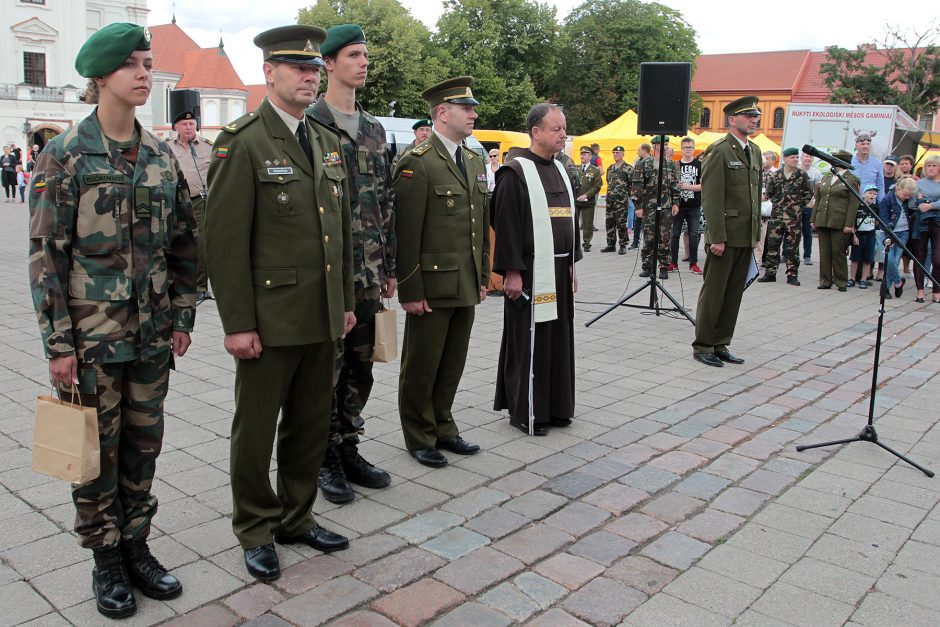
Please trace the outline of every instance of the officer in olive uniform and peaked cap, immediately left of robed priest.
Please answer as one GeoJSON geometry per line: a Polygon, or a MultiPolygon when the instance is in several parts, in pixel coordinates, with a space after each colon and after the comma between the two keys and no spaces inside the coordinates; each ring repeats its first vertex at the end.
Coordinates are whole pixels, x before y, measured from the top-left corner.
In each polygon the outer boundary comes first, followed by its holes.
{"type": "Polygon", "coordinates": [[[451,409],[490,274],[485,166],[462,145],[480,104],[472,85],[460,76],[421,94],[434,132],[394,175],[398,300],[407,314],[398,411],[408,452],[432,468],[447,464],[438,449],[480,450],[460,437],[451,409]]]}

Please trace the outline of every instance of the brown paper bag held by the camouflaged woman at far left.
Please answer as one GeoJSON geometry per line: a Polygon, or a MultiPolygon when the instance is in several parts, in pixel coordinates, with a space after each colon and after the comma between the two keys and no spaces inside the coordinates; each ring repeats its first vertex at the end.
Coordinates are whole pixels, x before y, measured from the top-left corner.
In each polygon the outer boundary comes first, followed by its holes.
{"type": "MultiPolygon", "coordinates": [[[[74,386],[72,397],[80,398],[74,386]]],[[[101,474],[98,409],[37,396],[33,470],[72,483],[97,478],[101,474]]]]}

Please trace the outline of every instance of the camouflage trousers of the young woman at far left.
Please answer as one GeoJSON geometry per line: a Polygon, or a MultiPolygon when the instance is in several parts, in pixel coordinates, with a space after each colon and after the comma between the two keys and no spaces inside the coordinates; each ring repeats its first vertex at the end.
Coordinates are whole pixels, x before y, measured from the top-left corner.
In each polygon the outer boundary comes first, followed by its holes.
{"type": "MultiPolygon", "coordinates": [[[[75,533],[87,549],[117,546],[150,535],[157,497],[150,493],[163,444],[163,399],[172,360],[80,364],[81,404],[98,407],[101,474],[72,486],[75,533]]],[[[60,387],[63,399],[79,402],[60,387]]]]}

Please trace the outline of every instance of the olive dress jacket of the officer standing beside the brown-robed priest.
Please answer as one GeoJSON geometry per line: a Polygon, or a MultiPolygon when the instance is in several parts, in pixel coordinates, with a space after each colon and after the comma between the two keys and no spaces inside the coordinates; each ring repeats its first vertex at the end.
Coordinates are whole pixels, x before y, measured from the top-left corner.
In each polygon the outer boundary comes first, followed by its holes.
{"type": "Polygon", "coordinates": [[[472,150],[462,150],[466,177],[437,135],[403,154],[392,176],[403,303],[472,306],[489,282],[485,166],[472,150]]]}

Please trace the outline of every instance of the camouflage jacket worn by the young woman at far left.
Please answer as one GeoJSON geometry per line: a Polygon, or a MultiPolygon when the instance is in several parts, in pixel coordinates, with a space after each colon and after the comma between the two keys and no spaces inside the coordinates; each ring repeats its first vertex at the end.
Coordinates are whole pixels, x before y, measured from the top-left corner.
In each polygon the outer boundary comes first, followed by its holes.
{"type": "Polygon", "coordinates": [[[195,219],[170,147],[141,129],[136,165],[97,109],[39,155],[29,192],[29,280],[46,357],[150,357],[195,318],[195,219]]]}

